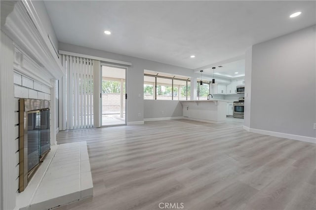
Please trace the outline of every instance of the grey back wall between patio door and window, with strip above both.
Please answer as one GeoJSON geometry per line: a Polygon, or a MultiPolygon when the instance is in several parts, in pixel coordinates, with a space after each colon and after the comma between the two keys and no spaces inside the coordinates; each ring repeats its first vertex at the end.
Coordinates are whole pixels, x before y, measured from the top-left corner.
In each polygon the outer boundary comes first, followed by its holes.
{"type": "Polygon", "coordinates": [[[193,70],[182,67],[162,64],[141,58],[120,55],[116,53],[81,47],[59,42],[59,50],[75,52],[85,55],[131,62],[127,69],[127,122],[140,122],[144,120],[144,70],[154,70],[171,74],[193,76],[193,70]],[[138,116],[141,113],[141,116],[138,116]]]}

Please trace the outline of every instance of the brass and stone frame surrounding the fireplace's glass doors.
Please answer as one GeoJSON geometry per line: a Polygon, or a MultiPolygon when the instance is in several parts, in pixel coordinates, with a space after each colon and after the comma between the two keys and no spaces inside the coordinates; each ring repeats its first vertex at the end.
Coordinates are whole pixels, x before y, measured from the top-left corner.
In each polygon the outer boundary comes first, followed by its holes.
{"type": "Polygon", "coordinates": [[[50,109],[50,101],[38,99],[19,99],[19,192],[23,192],[32,175],[40,166],[45,157],[42,154],[39,161],[32,170],[28,170],[28,114],[50,109]]]}

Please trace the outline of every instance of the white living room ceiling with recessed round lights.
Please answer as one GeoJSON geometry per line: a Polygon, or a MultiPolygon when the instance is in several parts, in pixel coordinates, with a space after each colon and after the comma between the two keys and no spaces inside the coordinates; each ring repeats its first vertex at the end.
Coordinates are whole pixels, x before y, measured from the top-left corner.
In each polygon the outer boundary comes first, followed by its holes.
{"type": "Polygon", "coordinates": [[[315,1],[47,0],[45,5],[61,42],[190,69],[243,55],[253,44],[316,23],[315,1]],[[290,19],[296,11],[302,14],[290,19]]]}

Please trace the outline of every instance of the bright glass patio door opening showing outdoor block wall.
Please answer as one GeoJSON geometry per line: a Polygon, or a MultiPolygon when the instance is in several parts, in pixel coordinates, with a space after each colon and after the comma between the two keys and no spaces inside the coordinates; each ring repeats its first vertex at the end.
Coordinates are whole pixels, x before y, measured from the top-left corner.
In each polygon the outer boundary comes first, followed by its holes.
{"type": "Polygon", "coordinates": [[[102,126],[126,125],[126,69],[102,66],[102,126]]]}

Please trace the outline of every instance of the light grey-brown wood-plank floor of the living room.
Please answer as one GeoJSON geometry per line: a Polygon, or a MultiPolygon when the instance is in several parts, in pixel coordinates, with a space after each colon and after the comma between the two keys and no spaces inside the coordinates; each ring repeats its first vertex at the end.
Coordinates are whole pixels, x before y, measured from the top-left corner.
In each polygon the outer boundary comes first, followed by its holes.
{"type": "Polygon", "coordinates": [[[58,210],[316,209],[314,143],[190,120],[57,135],[59,144],[83,140],[94,196],[58,210]]]}

